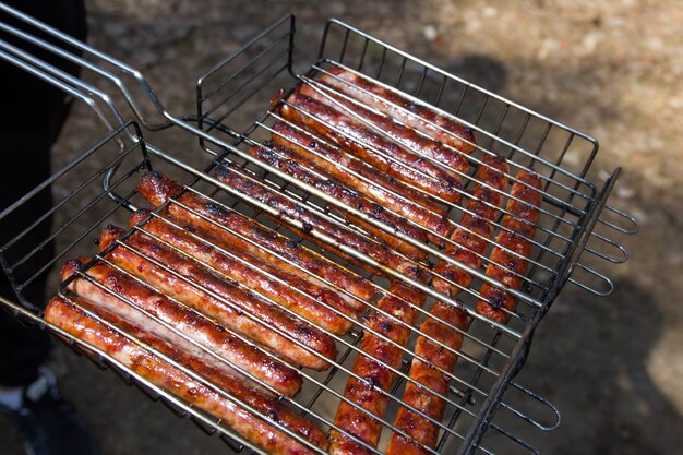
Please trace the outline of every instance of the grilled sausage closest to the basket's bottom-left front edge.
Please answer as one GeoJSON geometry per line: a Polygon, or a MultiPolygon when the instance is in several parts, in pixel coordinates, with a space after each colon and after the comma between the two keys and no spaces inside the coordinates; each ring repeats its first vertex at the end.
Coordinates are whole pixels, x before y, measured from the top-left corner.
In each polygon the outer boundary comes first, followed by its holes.
{"type": "Polygon", "coordinates": [[[280,455],[315,453],[275,428],[273,426],[275,423],[291,430],[313,446],[323,450],[326,447],[325,435],[317,427],[299,417],[278,400],[263,396],[259,390],[252,388],[239,378],[226,375],[225,372],[203,363],[105,310],[87,304],[83,300],[77,300],[77,302],[96,311],[106,321],[157,349],[160,354],[207,379],[215,386],[225,391],[230,398],[191,378],[177,367],[144,349],[137,343],[131,342],[115,330],[89,318],[81,309],[62,298],[55,297],[50,301],[45,310],[45,320],[106,352],[151,383],[197,408],[213,414],[226,427],[268,453],[280,455]],[[267,417],[254,415],[241,406],[240,402],[267,417]]]}

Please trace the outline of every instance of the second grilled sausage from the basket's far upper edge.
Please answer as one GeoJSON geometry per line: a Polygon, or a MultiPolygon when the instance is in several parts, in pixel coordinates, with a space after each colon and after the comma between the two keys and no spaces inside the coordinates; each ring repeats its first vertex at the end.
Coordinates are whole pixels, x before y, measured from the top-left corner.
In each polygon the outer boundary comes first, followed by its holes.
{"type": "MultiPolygon", "coordinates": [[[[299,93],[347,115],[349,121],[352,121],[358,127],[367,127],[380,135],[391,137],[391,140],[403,145],[409,154],[414,155],[414,159],[428,156],[442,164],[444,166],[443,169],[446,169],[447,175],[454,181],[463,181],[464,175],[469,169],[469,164],[464,154],[448,149],[441,142],[432,141],[430,137],[419,134],[415,130],[393,121],[391,118],[366,109],[362,104],[354,103],[339,96],[339,92],[325,83],[302,84],[299,86],[299,93]],[[451,169],[459,171],[460,175],[451,169]]],[[[433,161],[429,163],[432,164],[433,161]]]]}

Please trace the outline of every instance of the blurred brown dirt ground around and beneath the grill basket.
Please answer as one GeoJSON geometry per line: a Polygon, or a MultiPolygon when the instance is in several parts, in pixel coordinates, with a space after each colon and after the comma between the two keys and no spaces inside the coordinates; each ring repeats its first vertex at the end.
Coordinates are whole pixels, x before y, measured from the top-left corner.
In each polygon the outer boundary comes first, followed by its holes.
{"type": "MultiPolygon", "coordinates": [[[[640,223],[625,264],[596,263],[609,298],[567,285],[518,382],[550,399],[561,427],[511,423],[546,454],[673,454],[683,447],[683,4],[678,0],[91,0],[94,46],[143,71],[176,113],[195,77],[281,15],[314,48],[334,16],[600,141],[592,176],[623,168],[610,203],[640,223]],[[679,448],[676,448],[679,447],[679,448]]],[[[76,106],[55,153],[83,149],[95,120],[76,106]]],[[[229,450],[112,374],[58,349],[64,395],[104,455],[229,450]]],[[[0,422],[5,455],[22,453],[0,422]]],[[[504,447],[504,446],[502,446],[504,447]]],[[[501,453],[505,453],[501,448],[501,453]]]]}

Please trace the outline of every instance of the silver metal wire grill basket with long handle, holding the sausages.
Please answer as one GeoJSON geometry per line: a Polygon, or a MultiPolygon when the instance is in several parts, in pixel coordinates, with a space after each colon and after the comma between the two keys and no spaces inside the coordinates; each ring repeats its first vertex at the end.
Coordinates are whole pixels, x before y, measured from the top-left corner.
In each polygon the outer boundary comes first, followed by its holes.
{"type": "MultiPolygon", "coordinates": [[[[196,191],[226,209],[245,214],[263,226],[361,274],[381,292],[386,291],[387,277],[411,283],[428,294],[427,303],[419,309],[420,321],[429,314],[436,299],[455,303],[455,299],[448,299],[395,270],[384,271],[384,276],[367,272],[368,267],[357,266],[357,263],[373,264],[371,258],[350,247],[331,242],[329,238],[316,231],[311,231],[310,238],[299,237],[292,226],[304,228],[300,221],[240,193],[213,175],[217,166],[228,163],[240,166],[251,172],[257,184],[286,195],[293,203],[342,229],[362,231],[362,228],[349,221],[349,215],[352,215],[379,229],[400,236],[356,207],[346,206],[248,153],[252,145],[272,134],[274,122],[279,120],[275,109],[268,109],[271,97],[277,89],[291,92],[304,83],[314,86],[312,79],[316,74],[340,67],[380,81],[386,87],[396,88],[414,97],[416,103],[431,105],[474,130],[478,141],[469,157],[472,168],[482,166],[484,156],[495,154],[506,158],[511,179],[519,169],[532,169],[541,176],[543,204],[538,234],[531,239],[534,249],[524,286],[519,291],[511,290],[519,304],[511,313],[510,322],[499,324],[474,310],[480,285],[498,284],[482,273],[488,258],[482,258],[481,270],[470,270],[475,280],[458,296],[471,316],[471,325],[467,331],[460,331],[464,343],[457,352],[459,360],[456,369],[448,373],[448,394],[442,397],[447,404],[446,412],[443,420],[436,422],[441,436],[436,448],[430,451],[435,454],[499,451],[538,453],[529,442],[505,429],[511,419],[522,419],[543,431],[556,428],[560,421],[554,406],[514,381],[527,357],[534,331],[566,283],[596,295],[611,294],[611,280],[588,264],[625,261],[626,251],[612,238],[637,230],[632,217],[607,205],[619,169],[603,184],[588,179],[590,165],[598,151],[598,143],[594,139],[335,20],[329,21],[324,29],[320,53],[314,62],[310,64],[295,60],[293,16],[278,21],[202,75],[197,81],[196,113],[177,117],[169,113],[135,69],[7,5],[0,4],[0,10],[5,19],[19,19],[25,24],[23,29],[29,31],[22,32],[2,22],[0,28],[3,35],[13,35],[74,62],[84,70],[84,74],[82,79],[70,76],[7,40],[0,41],[0,56],[87,104],[105,130],[100,142],[80,156],[70,158],[50,179],[0,214],[0,223],[12,223],[16,208],[32,197],[45,191],[55,194],[55,206],[49,213],[37,214],[34,223],[0,248],[2,266],[17,298],[17,302],[0,298],[4,309],[22,321],[48,328],[76,351],[85,352],[97,364],[112,367],[153,397],[161,397],[164,403],[171,405],[181,415],[189,415],[208,433],[220,434],[235,451],[244,448],[263,453],[214,417],[154,385],[106,352],[43,321],[43,302],[28,301],[23,290],[38,276],[47,274],[51,279],[50,289],[59,288],[58,294],[68,297],[65,288],[71,279],[59,284],[52,277],[57,275],[53,266],[74,256],[92,254],[92,240],[104,226],[110,223],[127,226],[131,211],[148,207],[137,194],[135,185],[141,172],[157,170],[182,182],[188,191],[196,191]],[[38,38],[38,33],[51,35],[60,46],[38,38]],[[79,57],[81,52],[83,58],[79,57]],[[93,79],[95,82],[86,82],[93,79]],[[159,143],[169,145],[155,145],[157,134],[159,143]],[[167,136],[173,139],[164,142],[167,136]],[[41,225],[50,223],[50,217],[52,235],[49,238],[32,236],[41,225]],[[313,243],[311,239],[319,241],[313,243]],[[56,254],[48,260],[37,261],[40,251],[50,241],[56,243],[56,254]],[[321,248],[320,241],[328,243],[327,247],[321,248]],[[349,262],[349,256],[354,262],[349,262]],[[24,264],[32,265],[26,267],[24,264]]],[[[467,177],[471,187],[475,183],[474,176],[467,177]]],[[[155,209],[149,216],[164,219],[161,208],[155,209]]],[[[459,204],[448,206],[448,216],[455,221],[463,212],[464,207],[459,204]]],[[[496,227],[501,228],[500,224],[496,227]]],[[[146,232],[144,224],[131,228],[127,236],[135,231],[146,232]]],[[[119,241],[120,244],[111,248],[124,248],[124,239],[125,236],[119,241]]],[[[432,263],[444,260],[467,270],[466,265],[448,258],[438,248],[409,238],[405,240],[427,251],[432,263]]],[[[229,254],[227,251],[225,253],[229,254]]],[[[100,260],[106,261],[103,255],[99,255],[100,260]]],[[[81,276],[92,280],[85,272],[81,276]]],[[[128,303],[135,307],[133,302],[128,303]]],[[[367,312],[376,311],[375,303],[367,302],[367,312]]],[[[107,324],[96,314],[89,314],[107,324]]],[[[383,419],[384,435],[390,429],[395,429],[392,422],[397,408],[403,405],[403,390],[406,382],[414,381],[408,375],[408,369],[415,356],[410,347],[420,335],[419,326],[418,323],[412,327],[408,346],[400,347],[404,361],[402,368],[395,371],[398,381],[386,393],[390,407],[383,419]]],[[[349,376],[355,374],[351,366],[359,352],[361,335],[367,330],[357,323],[350,334],[333,335],[339,349],[334,367],[326,372],[301,371],[304,378],[301,393],[296,398],[281,399],[324,431],[335,429],[334,412],[339,400],[346,399],[344,386],[349,376]]],[[[122,334],[131,337],[130,334],[122,334]]],[[[146,348],[163,357],[154,348],[146,348]]],[[[177,364],[172,359],[168,360],[196,381],[250,409],[249,405],[230,397],[206,378],[177,364]]],[[[284,428],[280,430],[288,431],[284,428]]],[[[289,434],[297,438],[293,433],[289,434]]],[[[380,447],[384,443],[383,440],[380,447]]]]}

